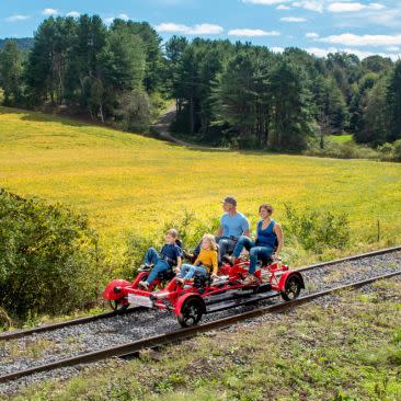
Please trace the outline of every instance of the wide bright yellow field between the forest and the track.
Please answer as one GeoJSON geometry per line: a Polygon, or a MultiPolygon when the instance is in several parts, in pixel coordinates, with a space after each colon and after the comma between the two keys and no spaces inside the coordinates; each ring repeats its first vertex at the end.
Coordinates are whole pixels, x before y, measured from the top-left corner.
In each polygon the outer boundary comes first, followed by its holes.
{"type": "Polygon", "coordinates": [[[88,213],[107,252],[183,210],[209,219],[233,194],[253,225],[268,202],[345,211],[359,248],[401,242],[401,164],[206,151],[39,113],[0,107],[1,186],[88,213]],[[371,243],[380,220],[381,243],[371,243]],[[370,241],[370,244],[369,244],[370,241]]]}

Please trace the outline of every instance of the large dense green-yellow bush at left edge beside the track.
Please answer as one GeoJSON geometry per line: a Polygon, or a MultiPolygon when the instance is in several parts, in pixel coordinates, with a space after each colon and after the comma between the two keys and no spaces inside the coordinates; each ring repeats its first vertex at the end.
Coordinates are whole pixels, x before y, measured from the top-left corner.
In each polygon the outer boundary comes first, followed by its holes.
{"type": "Polygon", "coordinates": [[[0,307],[15,318],[65,313],[93,300],[98,236],[84,215],[0,191],[0,307]]]}

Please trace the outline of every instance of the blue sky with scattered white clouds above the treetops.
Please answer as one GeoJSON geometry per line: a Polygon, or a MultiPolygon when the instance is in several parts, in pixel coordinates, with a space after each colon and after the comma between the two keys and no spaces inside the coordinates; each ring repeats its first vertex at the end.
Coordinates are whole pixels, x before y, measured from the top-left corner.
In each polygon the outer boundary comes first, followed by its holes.
{"type": "Polygon", "coordinates": [[[274,51],[296,46],[401,58],[400,0],[0,0],[0,38],[33,36],[50,15],[99,14],[149,22],[164,41],[252,42],[274,51]]]}

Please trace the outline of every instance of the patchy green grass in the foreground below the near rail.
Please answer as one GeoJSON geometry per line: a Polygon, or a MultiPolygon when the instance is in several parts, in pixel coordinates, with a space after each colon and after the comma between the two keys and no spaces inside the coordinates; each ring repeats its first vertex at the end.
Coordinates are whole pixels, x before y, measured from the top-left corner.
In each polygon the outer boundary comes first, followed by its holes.
{"type": "Polygon", "coordinates": [[[45,380],[15,401],[400,400],[400,280],[379,282],[330,305],[45,380]]]}

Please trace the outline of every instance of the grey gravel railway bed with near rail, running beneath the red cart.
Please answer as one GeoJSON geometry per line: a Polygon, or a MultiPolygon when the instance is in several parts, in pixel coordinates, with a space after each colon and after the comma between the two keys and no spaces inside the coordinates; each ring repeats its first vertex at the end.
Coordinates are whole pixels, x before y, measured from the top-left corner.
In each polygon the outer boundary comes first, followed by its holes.
{"type": "Polygon", "coordinates": [[[41,380],[41,375],[51,375],[54,369],[133,355],[144,348],[182,341],[266,313],[283,312],[340,290],[401,275],[401,247],[305,266],[300,271],[306,280],[301,298],[289,302],[266,300],[257,307],[221,311],[209,316],[204,324],[188,329],[176,330],[176,322],[169,313],[135,310],[134,314],[131,310],[121,316],[111,313],[106,318],[103,313],[102,318],[92,317],[87,322],[64,322],[58,329],[51,325],[42,328],[42,332],[30,331],[20,339],[3,341],[0,393],[16,382],[41,380]],[[41,351],[35,348],[37,342],[41,351]]]}

